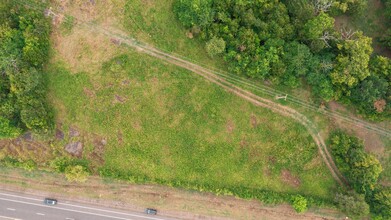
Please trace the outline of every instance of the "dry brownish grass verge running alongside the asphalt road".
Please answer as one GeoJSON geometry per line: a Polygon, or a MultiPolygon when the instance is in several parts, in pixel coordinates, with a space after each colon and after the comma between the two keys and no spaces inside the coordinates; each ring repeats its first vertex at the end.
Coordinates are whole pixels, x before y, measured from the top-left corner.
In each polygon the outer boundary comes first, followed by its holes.
{"type": "Polygon", "coordinates": [[[132,185],[90,178],[83,184],[70,184],[64,176],[43,172],[26,173],[0,168],[0,189],[24,192],[38,197],[55,197],[123,210],[140,211],[155,207],[159,214],[179,219],[342,219],[330,209],[311,209],[297,214],[290,206],[267,207],[255,200],[214,196],[158,185],[132,185]]]}

